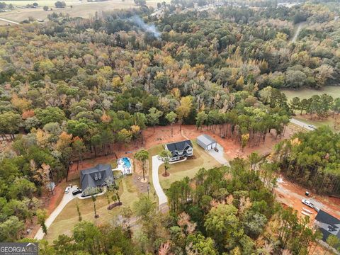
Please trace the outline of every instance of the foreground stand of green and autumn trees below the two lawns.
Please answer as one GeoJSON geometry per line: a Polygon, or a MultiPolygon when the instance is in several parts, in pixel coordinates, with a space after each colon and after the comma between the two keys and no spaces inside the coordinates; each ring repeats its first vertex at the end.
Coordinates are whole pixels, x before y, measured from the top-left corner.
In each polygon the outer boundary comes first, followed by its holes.
{"type": "MultiPolygon", "coordinates": [[[[122,208],[123,225],[96,227],[79,222],[72,237],[61,235],[41,254],[308,254],[320,233],[299,219],[293,208],[275,202],[272,163],[234,159],[231,167],[200,169],[167,191],[170,213],[156,210],[147,196],[135,205],[140,232],[131,226],[131,208],[122,208]],[[263,171],[255,171],[256,165],[263,171]],[[261,173],[261,174],[260,174],[261,173]],[[264,183],[261,179],[265,180],[264,183]]],[[[30,239],[24,239],[30,242],[30,239]]]]}

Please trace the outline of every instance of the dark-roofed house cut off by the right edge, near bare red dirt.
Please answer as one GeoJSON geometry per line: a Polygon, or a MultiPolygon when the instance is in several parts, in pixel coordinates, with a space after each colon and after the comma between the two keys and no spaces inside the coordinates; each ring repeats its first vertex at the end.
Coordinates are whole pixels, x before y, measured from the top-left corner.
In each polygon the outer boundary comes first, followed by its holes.
{"type": "Polygon", "coordinates": [[[320,209],[319,212],[317,212],[314,224],[319,227],[320,231],[324,235],[322,237],[324,242],[326,242],[330,234],[334,234],[336,237],[340,238],[340,220],[329,215],[327,212],[320,209]]]}

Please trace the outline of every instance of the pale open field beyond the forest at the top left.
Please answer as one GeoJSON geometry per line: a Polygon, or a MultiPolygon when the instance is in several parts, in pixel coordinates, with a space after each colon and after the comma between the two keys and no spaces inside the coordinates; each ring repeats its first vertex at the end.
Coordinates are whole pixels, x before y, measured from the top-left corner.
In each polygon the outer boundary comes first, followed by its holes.
{"type": "MultiPolygon", "coordinates": [[[[29,17],[33,17],[35,19],[47,19],[47,15],[51,14],[53,11],[57,13],[68,14],[71,17],[81,17],[81,18],[89,18],[94,16],[96,12],[101,13],[101,11],[113,11],[115,9],[121,8],[139,8],[135,5],[132,0],[108,0],[101,2],[92,2],[89,3],[87,1],[77,1],[77,0],[67,0],[65,3],[67,4],[66,8],[55,8],[55,0],[37,0],[37,1],[5,1],[6,4],[13,4],[14,6],[26,6],[27,4],[33,4],[33,2],[37,2],[39,4],[39,8],[16,8],[13,11],[8,11],[6,13],[0,13],[0,18],[6,18],[10,21],[20,22],[28,19],[29,17]],[[52,7],[52,11],[44,11],[42,10],[42,6],[52,7]],[[72,8],[70,7],[72,6],[72,8]]],[[[157,6],[157,2],[159,0],[147,0],[147,6],[157,6]]],[[[0,25],[3,22],[0,23],[0,25]]],[[[6,23],[5,23],[6,24],[6,23]]]]}

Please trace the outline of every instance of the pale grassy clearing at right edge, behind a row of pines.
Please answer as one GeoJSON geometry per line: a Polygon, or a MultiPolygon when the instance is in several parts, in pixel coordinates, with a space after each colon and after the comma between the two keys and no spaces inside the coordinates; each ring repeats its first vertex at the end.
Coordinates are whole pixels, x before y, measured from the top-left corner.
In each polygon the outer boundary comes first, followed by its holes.
{"type": "Polygon", "coordinates": [[[297,96],[300,99],[310,98],[313,95],[322,95],[329,94],[333,96],[333,98],[340,97],[340,86],[325,86],[324,89],[316,90],[316,89],[300,89],[300,90],[290,90],[290,89],[282,89],[281,90],[285,96],[287,96],[288,102],[293,97],[297,96]]]}

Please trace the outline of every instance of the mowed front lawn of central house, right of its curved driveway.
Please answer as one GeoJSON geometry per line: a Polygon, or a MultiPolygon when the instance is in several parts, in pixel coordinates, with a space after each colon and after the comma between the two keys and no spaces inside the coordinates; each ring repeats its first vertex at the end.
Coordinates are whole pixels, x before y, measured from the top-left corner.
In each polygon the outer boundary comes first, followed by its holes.
{"type": "Polygon", "coordinates": [[[184,177],[188,176],[192,179],[198,170],[201,168],[211,169],[213,167],[221,166],[213,157],[205,152],[205,150],[199,147],[196,142],[193,142],[193,155],[195,158],[187,159],[184,162],[170,164],[169,174],[170,176],[164,177],[164,164],[159,167],[159,182],[162,188],[169,188],[171,183],[180,181],[184,177]]]}

